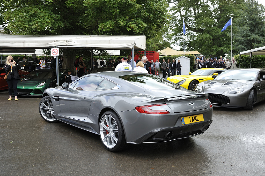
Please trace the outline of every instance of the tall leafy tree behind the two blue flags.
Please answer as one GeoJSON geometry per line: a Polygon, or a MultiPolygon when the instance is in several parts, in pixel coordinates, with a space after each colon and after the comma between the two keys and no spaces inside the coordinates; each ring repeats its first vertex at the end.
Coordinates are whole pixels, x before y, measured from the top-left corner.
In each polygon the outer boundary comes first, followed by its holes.
{"type": "MultiPolygon", "coordinates": [[[[183,19],[186,26],[186,47],[204,55],[224,56],[231,50],[231,35],[221,32],[226,22],[237,16],[235,9],[243,0],[172,0],[174,42],[183,46],[183,19]]],[[[229,27],[227,28],[229,30],[229,27]]],[[[187,49],[185,49],[187,50],[187,49]]]]}

